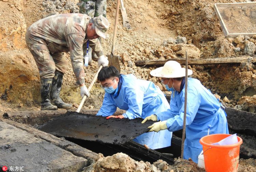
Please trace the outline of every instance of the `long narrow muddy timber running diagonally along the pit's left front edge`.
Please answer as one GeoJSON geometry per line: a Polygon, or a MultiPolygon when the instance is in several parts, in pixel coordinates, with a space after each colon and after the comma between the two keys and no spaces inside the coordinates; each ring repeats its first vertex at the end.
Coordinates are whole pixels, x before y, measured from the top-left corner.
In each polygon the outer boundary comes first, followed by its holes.
{"type": "Polygon", "coordinates": [[[12,126],[15,126],[16,128],[22,129],[30,134],[32,134],[34,137],[43,139],[47,142],[50,142],[66,151],[71,152],[72,154],[83,157],[85,159],[89,160],[89,163],[96,161],[99,159],[99,155],[95,152],[92,152],[86,148],[83,148],[75,143],[72,143],[68,140],[65,140],[63,138],[58,138],[56,136],[53,136],[51,134],[48,134],[46,132],[40,131],[38,129],[35,129],[33,127],[30,127],[26,124],[20,124],[15,121],[6,120],[6,119],[0,119],[0,121],[3,121],[5,123],[8,123],[12,126]]]}

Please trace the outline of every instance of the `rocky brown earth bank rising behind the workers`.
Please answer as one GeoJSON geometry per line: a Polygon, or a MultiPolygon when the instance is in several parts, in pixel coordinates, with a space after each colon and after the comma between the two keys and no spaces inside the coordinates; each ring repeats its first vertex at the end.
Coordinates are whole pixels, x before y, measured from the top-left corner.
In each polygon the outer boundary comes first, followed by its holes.
{"type": "MultiPolygon", "coordinates": [[[[39,73],[24,37],[27,27],[47,15],[77,12],[78,0],[60,1],[62,6],[56,9],[53,4],[55,1],[50,0],[0,0],[1,114],[6,111],[40,109],[39,73]]],[[[227,2],[242,0],[218,1],[227,2]]],[[[114,0],[108,0],[110,30],[107,38],[102,40],[105,54],[110,53],[112,46],[115,3],[114,0]]],[[[159,79],[149,74],[154,68],[137,67],[134,61],[184,58],[186,50],[189,51],[189,58],[240,56],[248,53],[245,51],[248,43],[256,43],[256,36],[224,37],[213,10],[214,0],[130,0],[124,3],[132,30],[127,31],[122,27],[122,16],[119,13],[115,54],[121,57],[121,73],[132,73],[138,78],[153,81],[163,91],[166,90],[159,79]],[[187,43],[175,44],[179,35],[186,37],[187,43]]],[[[66,58],[69,59],[68,53],[66,58]]],[[[198,78],[214,94],[221,96],[221,99],[227,96],[229,103],[225,103],[225,106],[255,111],[253,96],[256,94],[256,70],[253,67],[208,65],[189,68],[194,72],[193,77],[198,78]]],[[[97,69],[95,61],[85,68],[87,86],[97,69]]],[[[75,86],[71,63],[64,75],[60,96],[64,101],[73,103],[74,107],[80,104],[81,97],[79,88],[75,86]]],[[[83,108],[99,108],[103,96],[104,91],[96,83],[83,108]]],[[[255,163],[255,160],[249,162],[255,163]]],[[[246,168],[250,171],[251,167],[246,168]]]]}

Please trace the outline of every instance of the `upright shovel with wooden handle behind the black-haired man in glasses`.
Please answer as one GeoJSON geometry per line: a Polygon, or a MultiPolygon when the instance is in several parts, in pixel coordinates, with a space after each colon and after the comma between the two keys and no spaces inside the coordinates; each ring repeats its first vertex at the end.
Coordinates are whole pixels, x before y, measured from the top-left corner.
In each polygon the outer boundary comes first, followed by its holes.
{"type": "Polygon", "coordinates": [[[121,71],[120,64],[119,64],[119,56],[114,56],[114,51],[115,51],[115,43],[116,43],[116,31],[117,31],[117,21],[118,21],[118,12],[119,12],[119,5],[120,1],[117,0],[116,3],[116,16],[115,16],[115,24],[114,24],[114,34],[113,34],[113,44],[112,44],[112,50],[111,54],[107,55],[108,60],[109,60],[109,66],[115,66],[117,70],[121,71]]]}

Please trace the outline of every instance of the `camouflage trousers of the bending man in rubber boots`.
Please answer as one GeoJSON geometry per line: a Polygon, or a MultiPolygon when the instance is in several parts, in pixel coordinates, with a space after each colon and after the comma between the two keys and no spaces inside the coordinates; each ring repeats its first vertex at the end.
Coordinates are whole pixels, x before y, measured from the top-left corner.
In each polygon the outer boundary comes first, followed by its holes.
{"type": "MultiPolygon", "coordinates": [[[[68,60],[64,58],[63,52],[51,53],[47,44],[32,41],[28,35],[25,36],[26,44],[37,64],[40,78],[53,78],[55,70],[65,74],[67,72],[68,60]]],[[[43,40],[41,40],[43,41],[43,40]]]]}

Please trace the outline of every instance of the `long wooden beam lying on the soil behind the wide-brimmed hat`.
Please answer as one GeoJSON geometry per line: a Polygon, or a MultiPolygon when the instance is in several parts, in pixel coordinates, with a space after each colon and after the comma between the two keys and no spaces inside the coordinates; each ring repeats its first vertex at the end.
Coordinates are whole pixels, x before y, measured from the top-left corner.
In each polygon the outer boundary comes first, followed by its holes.
{"type": "MultiPolygon", "coordinates": [[[[186,60],[182,58],[149,61],[137,60],[135,61],[135,64],[136,66],[163,66],[168,61],[176,61],[179,62],[181,65],[185,65],[186,60]]],[[[232,58],[188,59],[188,65],[241,64],[242,62],[246,61],[251,61],[251,63],[255,63],[256,58],[251,56],[240,56],[232,58]]]]}

